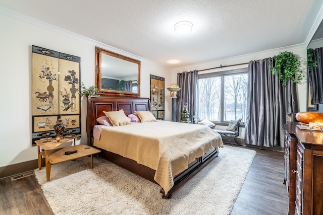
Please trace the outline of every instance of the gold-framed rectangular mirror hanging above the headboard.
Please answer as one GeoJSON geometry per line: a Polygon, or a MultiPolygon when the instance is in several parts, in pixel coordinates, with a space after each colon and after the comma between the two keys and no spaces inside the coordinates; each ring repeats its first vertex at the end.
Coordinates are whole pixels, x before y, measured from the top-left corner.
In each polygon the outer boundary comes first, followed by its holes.
{"type": "Polygon", "coordinates": [[[95,47],[95,87],[102,95],[140,97],[140,61],[95,47]]]}

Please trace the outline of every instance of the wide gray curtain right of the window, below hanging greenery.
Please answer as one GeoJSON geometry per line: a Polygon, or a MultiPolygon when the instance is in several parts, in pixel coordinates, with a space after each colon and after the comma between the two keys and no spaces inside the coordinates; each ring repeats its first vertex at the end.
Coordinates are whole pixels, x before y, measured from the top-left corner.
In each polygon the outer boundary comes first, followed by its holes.
{"type": "Polygon", "coordinates": [[[270,63],[271,58],[249,62],[244,141],[255,146],[284,147],[287,113],[298,112],[296,85],[289,81],[283,88],[270,63]]]}

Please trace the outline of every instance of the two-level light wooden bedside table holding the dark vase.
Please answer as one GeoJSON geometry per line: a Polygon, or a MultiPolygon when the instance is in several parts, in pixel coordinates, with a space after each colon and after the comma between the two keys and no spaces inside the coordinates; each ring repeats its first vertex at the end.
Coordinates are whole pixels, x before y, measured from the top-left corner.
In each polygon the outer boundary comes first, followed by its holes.
{"type": "Polygon", "coordinates": [[[59,142],[56,141],[56,138],[35,140],[37,144],[38,169],[41,169],[41,158],[44,157],[47,181],[50,179],[50,168],[52,164],[58,164],[64,161],[71,161],[77,158],[91,156],[90,168],[93,168],[93,155],[100,153],[101,151],[85,144],[75,145],[76,138],[80,136],[80,134],[76,136],[65,136],[64,139],[61,139],[59,142]],[[74,140],[73,146],[56,149],[70,140],[74,140]],[[40,151],[40,148],[42,148],[44,151],[40,151]],[[65,155],[65,152],[70,150],[77,150],[77,153],[65,155]]]}

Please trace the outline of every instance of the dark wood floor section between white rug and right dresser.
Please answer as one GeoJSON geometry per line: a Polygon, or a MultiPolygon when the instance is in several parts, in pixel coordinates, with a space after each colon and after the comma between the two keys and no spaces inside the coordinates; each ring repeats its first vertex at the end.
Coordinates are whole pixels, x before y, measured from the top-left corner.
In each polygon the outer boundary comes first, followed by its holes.
{"type": "Polygon", "coordinates": [[[257,153],[231,215],[288,214],[284,153],[247,147],[257,153]]]}

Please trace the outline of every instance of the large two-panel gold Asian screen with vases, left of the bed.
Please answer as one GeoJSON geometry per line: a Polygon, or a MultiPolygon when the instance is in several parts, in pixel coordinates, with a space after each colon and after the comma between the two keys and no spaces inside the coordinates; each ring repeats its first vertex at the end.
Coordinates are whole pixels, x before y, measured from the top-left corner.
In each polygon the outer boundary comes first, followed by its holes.
{"type": "Polygon", "coordinates": [[[79,134],[80,61],[69,54],[32,46],[32,145],[56,136],[53,126],[61,118],[63,135],[79,134]]]}

